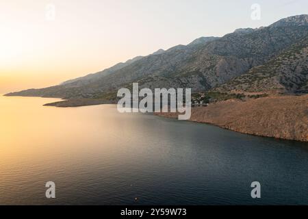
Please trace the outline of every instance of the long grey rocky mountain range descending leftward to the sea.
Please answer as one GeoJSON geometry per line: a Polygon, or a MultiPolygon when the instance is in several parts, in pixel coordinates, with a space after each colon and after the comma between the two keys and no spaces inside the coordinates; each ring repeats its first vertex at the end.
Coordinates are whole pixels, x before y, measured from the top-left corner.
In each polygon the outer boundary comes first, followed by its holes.
{"type": "Polygon", "coordinates": [[[307,20],[308,15],[293,16],[269,27],[238,29],[222,38],[199,38],[186,46],[137,57],[59,86],[7,95],[113,99],[118,88],[130,88],[133,82],[148,88],[210,90],[257,66],[265,66],[292,44],[303,40],[308,36],[307,20]]]}

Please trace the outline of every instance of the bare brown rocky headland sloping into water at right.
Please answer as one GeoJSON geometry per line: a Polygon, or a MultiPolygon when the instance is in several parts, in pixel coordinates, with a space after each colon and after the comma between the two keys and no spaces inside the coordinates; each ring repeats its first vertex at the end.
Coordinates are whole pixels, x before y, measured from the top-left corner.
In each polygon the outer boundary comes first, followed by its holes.
{"type": "MultiPolygon", "coordinates": [[[[177,118],[177,114],[159,116],[177,118]]],[[[308,142],[308,95],[223,101],[192,108],[192,121],[256,136],[308,142]]]]}

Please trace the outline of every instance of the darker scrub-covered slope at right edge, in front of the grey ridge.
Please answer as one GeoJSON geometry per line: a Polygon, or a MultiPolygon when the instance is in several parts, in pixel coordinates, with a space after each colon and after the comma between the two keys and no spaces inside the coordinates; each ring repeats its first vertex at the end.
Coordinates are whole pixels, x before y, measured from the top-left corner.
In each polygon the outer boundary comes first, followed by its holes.
{"type": "Polygon", "coordinates": [[[264,65],[214,89],[220,92],[308,93],[308,36],[264,65]]]}

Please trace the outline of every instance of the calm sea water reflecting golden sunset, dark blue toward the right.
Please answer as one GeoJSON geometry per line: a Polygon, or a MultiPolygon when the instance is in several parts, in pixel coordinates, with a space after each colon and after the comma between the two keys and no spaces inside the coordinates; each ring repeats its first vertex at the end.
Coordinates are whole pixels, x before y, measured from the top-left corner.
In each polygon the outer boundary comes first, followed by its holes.
{"type": "Polygon", "coordinates": [[[1,205],[308,204],[307,143],[51,101],[0,97],[1,205]]]}

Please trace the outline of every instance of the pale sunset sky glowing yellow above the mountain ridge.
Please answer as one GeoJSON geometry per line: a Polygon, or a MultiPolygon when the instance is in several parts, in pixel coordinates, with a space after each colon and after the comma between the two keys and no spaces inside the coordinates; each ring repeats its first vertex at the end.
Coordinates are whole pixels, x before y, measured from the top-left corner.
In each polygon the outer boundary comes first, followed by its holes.
{"type": "Polygon", "coordinates": [[[0,0],[0,94],[296,14],[307,0],[0,0]]]}

